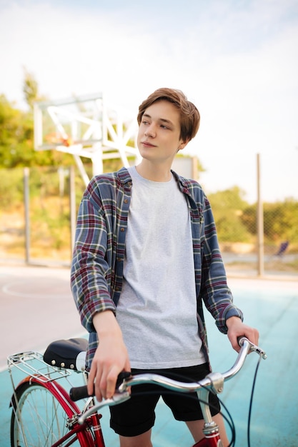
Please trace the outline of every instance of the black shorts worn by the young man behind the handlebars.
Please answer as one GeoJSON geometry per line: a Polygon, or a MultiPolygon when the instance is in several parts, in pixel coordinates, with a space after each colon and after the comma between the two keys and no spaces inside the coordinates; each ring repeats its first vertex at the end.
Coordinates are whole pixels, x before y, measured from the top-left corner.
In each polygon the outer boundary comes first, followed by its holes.
{"type": "MultiPolygon", "coordinates": [[[[209,374],[207,363],[186,368],[157,370],[131,369],[136,373],[157,373],[180,381],[195,382],[209,374]]],[[[177,421],[198,421],[203,419],[197,393],[184,394],[165,390],[158,385],[136,385],[131,387],[131,398],[120,405],[109,407],[111,413],[110,426],[121,436],[138,436],[154,426],[155,408],[159,398],[171,408],[177,421]]],[[[209,393],[209,404],[212,416],[219,413],[220,405],[216,395],[209,393]]]]}

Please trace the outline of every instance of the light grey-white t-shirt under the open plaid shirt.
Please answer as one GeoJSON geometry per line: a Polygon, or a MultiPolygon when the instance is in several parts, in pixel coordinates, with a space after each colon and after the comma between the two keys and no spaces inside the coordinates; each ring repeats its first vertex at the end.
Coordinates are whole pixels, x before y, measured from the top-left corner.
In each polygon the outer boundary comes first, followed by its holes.
{"type": "Polygon", "coordinates": [[[205,362],[197,324],[192,231],[187,201],[172,177],[149,181],[135,167],[116,318],[132,368],[205,362]]]}

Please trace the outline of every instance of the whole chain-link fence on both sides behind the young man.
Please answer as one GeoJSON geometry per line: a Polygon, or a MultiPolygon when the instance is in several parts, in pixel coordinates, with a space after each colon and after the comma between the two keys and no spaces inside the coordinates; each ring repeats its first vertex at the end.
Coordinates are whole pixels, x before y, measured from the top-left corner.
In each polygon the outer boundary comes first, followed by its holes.
{"type": "MultiPolygon", "coordinates": [[[[69,265],[84,189],[74,167],[1,169],[0,259],[69,265]]],[[[298,201],[260,208],[237,186],[210,194],[209,201],[228,273],[298,275],[298,201]]]]}

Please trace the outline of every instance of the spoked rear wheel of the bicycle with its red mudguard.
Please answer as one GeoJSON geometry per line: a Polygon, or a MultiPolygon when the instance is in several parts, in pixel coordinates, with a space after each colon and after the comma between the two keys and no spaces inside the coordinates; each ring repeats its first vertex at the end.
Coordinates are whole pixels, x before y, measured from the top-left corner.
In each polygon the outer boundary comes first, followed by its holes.
{"type": "Polygon", "coordinates": [[[73,403],[67,402],[68,396],[63,388],[58,387],[65,396],[59,397],[51,389],[56,390],[57,383],[40,383],[25,381],[16,388],[11,405],[11,447],[50,447],[94,446],[91,434],[86,431],[73,433],[65,441],[63,436],[69,433],[69,418],[76,414],[73,403]]]}

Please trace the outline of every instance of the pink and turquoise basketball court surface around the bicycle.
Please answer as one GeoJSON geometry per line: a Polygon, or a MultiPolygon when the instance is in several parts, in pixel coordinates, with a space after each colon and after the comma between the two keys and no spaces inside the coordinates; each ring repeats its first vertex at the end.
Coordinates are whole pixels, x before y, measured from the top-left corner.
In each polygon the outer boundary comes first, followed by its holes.
{"type": "MultiPolygon", "coordinates": [[[[252,446],[297,446],[298,281],[229,278],[229,286],[235,302],[244,311],[245,321],[259,329],[259,344],[268,355],[259,366],[254,393],[252,446]]],[[[6,447],[12,392],[6,356],[27,349],[43,352],[55,339],[86,336],[86,332],[71,296],[69,268],[2,265],[0,300],[0,446],[6,447]]],[[[212,318],[206,318],[214,371],[226,371],[236,354],[212,318]]],[[[257,356],[251,354],[239,375],[225,385],[222,396],[237,428],[237,447],[247,446],[247,415],[256,365],[257,356]]],[[[117,437],[109,429],[108,413],[104,409],[101,421],[106,447],[114,447],[117,437]]],[[[163,403],[157,407],[153,433],[154,447],[192,444],[184,423],[174,421],[163,403]]]]}

